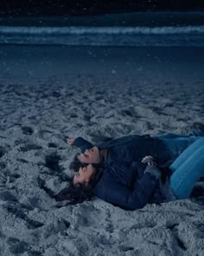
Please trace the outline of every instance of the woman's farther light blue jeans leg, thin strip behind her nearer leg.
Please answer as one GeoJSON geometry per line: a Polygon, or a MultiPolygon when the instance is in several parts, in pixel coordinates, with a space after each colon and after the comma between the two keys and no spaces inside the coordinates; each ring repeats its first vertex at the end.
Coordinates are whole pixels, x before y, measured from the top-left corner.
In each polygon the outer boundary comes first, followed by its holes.
{"type": "Polygon", "coordinates": [[[174,173],[178,167],[182,166],[182,163],[186,161],[191,154],[194,154],[194,152],[201,146],[204,146],[204,137],[194,141],[193,144],[188,146],[188,148],[186,148],[182,154],[176,158],[176,160],[169,166],[172,173],[174,173]]]}

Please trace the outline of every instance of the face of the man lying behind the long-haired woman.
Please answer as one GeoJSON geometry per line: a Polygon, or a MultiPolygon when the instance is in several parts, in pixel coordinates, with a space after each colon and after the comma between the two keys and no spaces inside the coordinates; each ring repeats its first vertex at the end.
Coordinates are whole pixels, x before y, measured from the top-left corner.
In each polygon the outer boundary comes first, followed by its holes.
{"type": "Polygon", "coordinates": [[[96,146],[86,149],[84,153],[79,154],[78,159],[83,163],[99,163],[100,162],[100,154],[99,148],[96,146]]]}

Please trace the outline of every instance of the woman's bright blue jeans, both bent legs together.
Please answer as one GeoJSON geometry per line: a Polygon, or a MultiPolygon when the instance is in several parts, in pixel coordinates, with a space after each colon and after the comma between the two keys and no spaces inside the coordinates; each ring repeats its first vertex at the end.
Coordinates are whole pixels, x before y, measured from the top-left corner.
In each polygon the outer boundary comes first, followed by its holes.
{"type": "Polygon", "coordinates": [[[170,187],[177,199],[191,194],[195,182],[204,176],[204,137],[194,141],[170,165],[170,187]]]}

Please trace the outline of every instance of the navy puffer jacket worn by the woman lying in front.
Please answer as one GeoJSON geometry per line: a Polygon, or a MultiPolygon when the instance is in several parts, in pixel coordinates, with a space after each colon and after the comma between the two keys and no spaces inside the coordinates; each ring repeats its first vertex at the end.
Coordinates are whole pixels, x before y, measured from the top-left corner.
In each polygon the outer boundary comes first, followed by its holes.
{"type": "Polygon", "coordinates": [[[144,207],[153,197],[159,185],[161,172],[155,166],[139,162],[124,165],[124,162],[111,162],[105,167],[95,194],[102,200],[126,210],[144,207]]]}

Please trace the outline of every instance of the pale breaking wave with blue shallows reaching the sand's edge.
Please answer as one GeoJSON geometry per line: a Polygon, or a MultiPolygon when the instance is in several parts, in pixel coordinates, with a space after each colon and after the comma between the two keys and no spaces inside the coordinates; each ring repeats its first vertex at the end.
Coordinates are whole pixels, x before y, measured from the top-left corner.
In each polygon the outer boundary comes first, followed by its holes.
{"type": "Polygon", "coordinates": [[[0,43],[204,47],[204,25],[154,28],[0,26],[0,43]]]}

